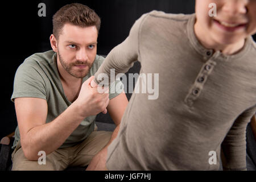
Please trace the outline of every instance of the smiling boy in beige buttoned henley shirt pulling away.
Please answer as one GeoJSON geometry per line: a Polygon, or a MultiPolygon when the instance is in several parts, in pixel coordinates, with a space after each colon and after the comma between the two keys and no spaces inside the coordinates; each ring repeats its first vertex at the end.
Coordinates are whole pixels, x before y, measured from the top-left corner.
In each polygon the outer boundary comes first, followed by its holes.
{"type": "Polygon", "coordinates": [[[137,60],[141,73],[159,73],[158,100],[131,97],[108,147],[109,170],[218,170],[221,148],[224,169],[246,169],[246,125],[256,110],[256,1],[197,0],[195,9],[144,14],[94,75],[92,86],[101,73],[126,72],[137,60]]]}

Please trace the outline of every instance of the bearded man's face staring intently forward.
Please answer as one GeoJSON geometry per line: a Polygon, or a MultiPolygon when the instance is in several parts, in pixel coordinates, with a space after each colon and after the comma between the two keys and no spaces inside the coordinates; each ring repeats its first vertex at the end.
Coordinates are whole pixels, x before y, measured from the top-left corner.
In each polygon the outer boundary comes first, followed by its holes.
{"type": "Polygon", "coordinates": [[[97,38],[96,26],[64,25],[57,41],[57,55],[65,71],[76,78],[87,75],[96,57],[97,38]]]}

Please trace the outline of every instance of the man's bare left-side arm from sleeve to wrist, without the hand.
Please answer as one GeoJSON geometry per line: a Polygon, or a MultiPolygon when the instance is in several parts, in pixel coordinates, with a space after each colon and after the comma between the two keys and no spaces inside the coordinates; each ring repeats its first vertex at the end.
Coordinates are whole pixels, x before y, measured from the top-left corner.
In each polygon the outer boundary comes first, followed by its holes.
{"type": "Polygon", "coordinates": [[[39,151],[48,155],[59,148],[83,119],[76,114],[79,108],[72,105],[52,122],[46,123],[46,100],[21,97],[15,98],[14,102],[20,143],[28,160],[38,160],[39,151]]]}

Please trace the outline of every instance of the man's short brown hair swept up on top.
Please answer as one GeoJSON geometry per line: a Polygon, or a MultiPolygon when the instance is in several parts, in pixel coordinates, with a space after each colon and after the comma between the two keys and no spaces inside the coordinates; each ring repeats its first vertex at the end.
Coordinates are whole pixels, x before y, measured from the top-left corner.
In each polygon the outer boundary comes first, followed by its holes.
{"type": "Polygon", "coordinates": [[[53,15],[53,35],[56,39],[59,39],[65,23],[71,23],[80,27],[96,26],[97,31],[99,32],[101,19],[88,6],[80,3],[72,3],[61,7],[61,9],[53,15]]]}

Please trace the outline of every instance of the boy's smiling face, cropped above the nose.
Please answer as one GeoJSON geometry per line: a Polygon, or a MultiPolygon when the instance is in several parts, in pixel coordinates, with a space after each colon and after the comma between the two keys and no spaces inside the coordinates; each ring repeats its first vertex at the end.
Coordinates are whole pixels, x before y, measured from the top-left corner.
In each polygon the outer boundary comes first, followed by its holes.
{"type": "Polygon", "coordinates": [[[214,42],[237,43],[256,33],[256,0],[196,0],[196,22],[214,42]],[[217,16],[209,16],[210,3],[217,16]]]}

